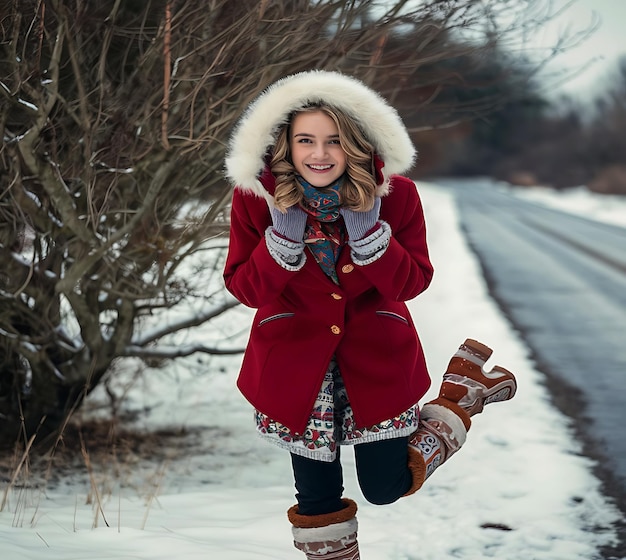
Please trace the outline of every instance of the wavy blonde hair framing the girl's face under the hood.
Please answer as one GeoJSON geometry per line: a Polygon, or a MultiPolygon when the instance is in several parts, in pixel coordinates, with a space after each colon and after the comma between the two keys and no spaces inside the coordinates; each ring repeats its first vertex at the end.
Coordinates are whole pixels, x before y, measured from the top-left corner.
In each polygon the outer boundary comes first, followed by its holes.
{"type": "Polygon", "coordinates": [[[270,169],[276,177],[274,204],[285,212],[304,198],[304,191],[296,179],[296,168],[291,159],[291,122],[299,113],[323,113],[330,117],[339,131],[339,143],[346,153],[346,172],[339,187],[342,206],[356,211],[370,210],[376,193],[374,147],[353,119],[328,105],[311,105],[295,111],[289,122],[281,127],[276,137],[270,169]]]}

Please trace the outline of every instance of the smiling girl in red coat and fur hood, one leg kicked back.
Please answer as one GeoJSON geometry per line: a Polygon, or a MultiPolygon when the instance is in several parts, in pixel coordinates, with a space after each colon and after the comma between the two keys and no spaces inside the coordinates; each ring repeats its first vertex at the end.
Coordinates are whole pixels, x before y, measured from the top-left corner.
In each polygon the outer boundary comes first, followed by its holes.
{"type": "Polygon", "coordinates": [[[419,410],[430,381],[404,302],[433,267],[415,184],[398,175],[414,157],[383,98],[326,71],[270,86],[230,141],[224,279],[257,309],[237,384],[258,432],[291,454],[288,518],[309,559],[359,558],[340,445],[354,445],[365,498],[392,503],[459,449],[470,416],[516,390],[510,372],[483,371],[491,350],[468,339],[419,410]]]}

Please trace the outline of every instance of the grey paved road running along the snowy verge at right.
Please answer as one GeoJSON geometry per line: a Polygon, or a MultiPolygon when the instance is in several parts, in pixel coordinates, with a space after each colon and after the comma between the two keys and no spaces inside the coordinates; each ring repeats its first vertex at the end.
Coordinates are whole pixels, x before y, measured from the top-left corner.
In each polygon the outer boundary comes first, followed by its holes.
{"type": "Polygon", "coordinates": [[[626,229],[448,182],[492,295],[626,514],[626,229]]]}

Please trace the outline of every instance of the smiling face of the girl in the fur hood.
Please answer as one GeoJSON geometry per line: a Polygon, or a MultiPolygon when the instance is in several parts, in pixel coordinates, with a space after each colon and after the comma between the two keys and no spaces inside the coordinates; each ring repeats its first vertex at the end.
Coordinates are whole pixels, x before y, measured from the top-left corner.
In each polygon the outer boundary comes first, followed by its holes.
{"type": "Polygon", "coordinates": [[[335,122],[322,112],[298,113],[291,123],[290,149],[296,171],[317,188],[336,182],[346,170],[346,153],[335,122]]]}

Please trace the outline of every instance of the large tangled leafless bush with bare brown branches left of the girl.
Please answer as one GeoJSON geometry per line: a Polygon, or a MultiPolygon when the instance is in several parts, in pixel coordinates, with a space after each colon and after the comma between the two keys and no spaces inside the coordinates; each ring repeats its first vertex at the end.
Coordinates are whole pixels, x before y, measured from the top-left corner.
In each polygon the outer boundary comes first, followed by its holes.
{"type": "Polygon", "coordinates": [[[215,281],[222,162],[265,86],[339,69],[419,111],[456,75],[445,61],[490,48],[511,5],[3,2],[0,443],[56,433],[120,358],[239,351],[171,337],[234,305],[215,281]]]}

